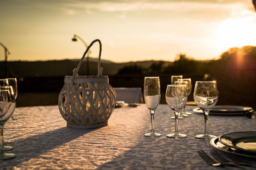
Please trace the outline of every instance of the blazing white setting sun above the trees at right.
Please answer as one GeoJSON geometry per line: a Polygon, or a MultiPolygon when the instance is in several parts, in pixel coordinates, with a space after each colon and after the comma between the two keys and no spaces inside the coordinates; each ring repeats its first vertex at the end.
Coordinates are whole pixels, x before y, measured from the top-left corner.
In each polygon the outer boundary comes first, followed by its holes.
{"type": "Polygon", "coordinates": [[[237,46],[256,45],[256,24],[249,18],[228,18],[218,27],[218,42],[223,50],[237,46]]]}

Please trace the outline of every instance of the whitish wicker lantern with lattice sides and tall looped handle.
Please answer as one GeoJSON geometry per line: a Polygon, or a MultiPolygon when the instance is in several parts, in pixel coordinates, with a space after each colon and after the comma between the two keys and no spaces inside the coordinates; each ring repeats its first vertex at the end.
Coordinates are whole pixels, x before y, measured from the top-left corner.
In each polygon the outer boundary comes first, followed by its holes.
{"type": "Polygon", "coordinates": [[[116,92],[108,83],[108,76],[102,76],[100,67],[101,43],[95,39],[88,46],[72,76],[65,76],[65,84],[58,97],[61,116],[67,127],[92,129],[108,125],[108,119],[115,107],[116,92]],[[78,76],[83,59],[93,45],[99,42],[97,76],[78,76]]]}

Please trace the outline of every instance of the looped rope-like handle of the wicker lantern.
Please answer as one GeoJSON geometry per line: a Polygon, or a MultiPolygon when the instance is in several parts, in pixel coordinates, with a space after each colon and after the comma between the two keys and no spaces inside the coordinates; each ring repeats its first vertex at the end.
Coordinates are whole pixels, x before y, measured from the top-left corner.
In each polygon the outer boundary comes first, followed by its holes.
{"type": "Polygon", "coordinates": [[[72,79],[74,80],[74,77],[77,76],[78,74],[78,71],[81,67],[81,64],[83,62],[83,59],[86,55],[86,53],[89,51],[89,49],[92,47],[92,45],[95,43],[95,42],[99,42],[99,45],[100,45],[100,50],[99,50],[99,59],[98,59],[98,76],[102,76],[102,67],[100,67],[100,56],[101,56],[101,51],[102,51],[102,45],[101,45],[101,42],[99,39],[95,39],[92,41],[92,43],[90,43],[90,45],[88,45],[88,47],[86,48],[85,52],[84,52],[84,55],[82,57],[82,59],[79,61],[77,67],[73,70],[73,76],[72,76],[72,79]]]}

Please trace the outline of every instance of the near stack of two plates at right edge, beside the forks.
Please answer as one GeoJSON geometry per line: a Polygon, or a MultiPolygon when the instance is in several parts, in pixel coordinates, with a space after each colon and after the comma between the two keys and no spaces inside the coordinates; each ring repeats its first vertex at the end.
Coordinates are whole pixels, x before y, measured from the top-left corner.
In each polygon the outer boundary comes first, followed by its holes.
{"type": "Polygon", "coordinates": [[[256,158],[256,131],[223,134],[212,138],[210,143],[223,152],[256,158]]]}

